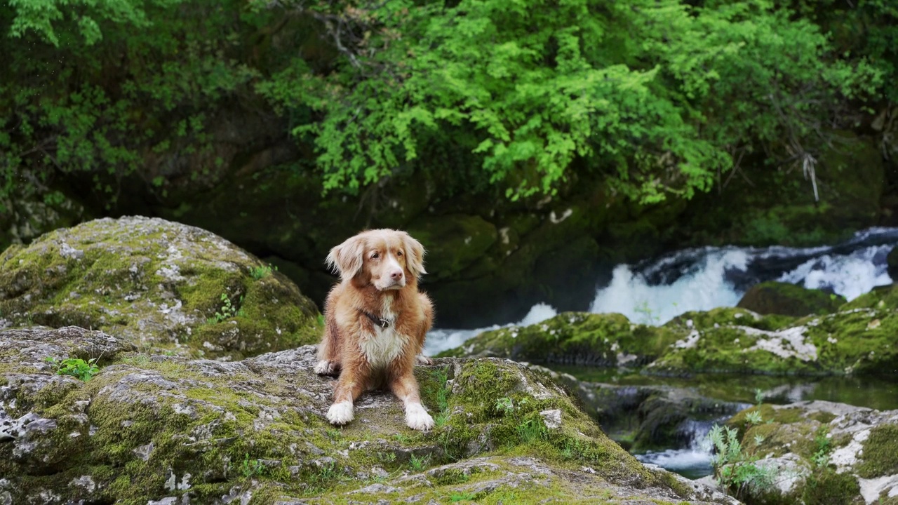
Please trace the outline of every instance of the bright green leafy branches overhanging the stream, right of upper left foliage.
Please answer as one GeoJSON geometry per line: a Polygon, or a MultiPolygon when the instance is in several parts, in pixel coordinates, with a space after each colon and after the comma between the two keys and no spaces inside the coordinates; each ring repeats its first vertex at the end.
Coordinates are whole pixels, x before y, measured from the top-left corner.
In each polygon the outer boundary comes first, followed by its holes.
{"type": "Polygon", "coordinates": [[[759,142],[800,158],[841,101],[881,84],[764,0],[339,5],[319,13],[344,29],[330,31],[339,72],[296,60],[259,87],[316,112],[295,133],[313,137],[326,189],[427,170],[423,140],[464,131],[513,199],[554,192],[578,159],[631,198],[688,198],[759,142]]]}

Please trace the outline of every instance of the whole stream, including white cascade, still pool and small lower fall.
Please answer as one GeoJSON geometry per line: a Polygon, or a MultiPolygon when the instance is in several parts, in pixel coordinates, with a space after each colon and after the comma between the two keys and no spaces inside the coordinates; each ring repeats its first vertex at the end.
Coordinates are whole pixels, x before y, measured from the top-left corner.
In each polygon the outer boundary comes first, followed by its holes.
{"type": "MultiPolygon", "coordinates": [[[[779,280],[806,288],[819,288],[851,300],[876,286],[892,283],[885,257],[898,244],[898,228],[869,228],[850,240],[831,246],[702,247],[665,254],[636,264],[614,268],[606,286],[596,288],[590,312],[620,313],[630,321],[663,324],[687,311],[735,306],[758,282],[779,280]]],[[[428,333],[425,354],[461,345],[480,332],[504,326],[529,325],[557,315],[537,304],[523,320],[497,323],[474,330],[435,329],[428,333]]],[[[827,400],[877,410],[898,409],[896,377],[770,377],[719,376],[671,378],[621,375],[615,369],[553,367],[580,380],[615,385],[672,385],[692,388],[702,396],[726,402],[755,400],[761,390],[765,403],[827,400]]],[[[734,412],[735,413],[735,412],[734,412]]],[[[703,443],[716,421],[689,420],[681,430],[685,447],[637,454],[644,463],[662,466],[690,478],[711,473],[710,450],[703,443]]]]}

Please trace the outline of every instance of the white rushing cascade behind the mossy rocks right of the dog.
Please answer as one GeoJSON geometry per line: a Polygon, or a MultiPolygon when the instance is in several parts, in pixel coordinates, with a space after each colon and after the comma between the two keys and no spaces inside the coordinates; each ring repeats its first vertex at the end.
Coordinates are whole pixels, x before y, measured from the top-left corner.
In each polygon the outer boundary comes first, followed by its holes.
{"type": "MultiPolygon", "coordinates": [[[[779,280],[828,290],[853,299],[890,284],[885,257],[898,244],[898,228],[869,228],[850,240],[819,247],[701,247],[653,260],[618,265],[607,286],[596,290],[590,312],[617,312],[630,321],[663,324],[687,311],[735,306],[748,288],[779,280]]],[[[439,329],[427,335],[425,353],[462,345],[486,330],[539,323],[557,314],[533,306],[522,321],[475,330],[439,329]]]]}

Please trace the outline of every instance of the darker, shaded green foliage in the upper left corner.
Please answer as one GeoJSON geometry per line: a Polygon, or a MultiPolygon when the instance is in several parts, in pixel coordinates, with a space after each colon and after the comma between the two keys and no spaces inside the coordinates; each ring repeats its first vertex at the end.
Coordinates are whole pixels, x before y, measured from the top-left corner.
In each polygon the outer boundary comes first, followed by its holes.
{"type": "MultiPolygon", "coordinates": [[[[0,196],[57,192],[83,173],[108,204],[129,175],[164,193],[161,155],[216,166],[207,124],[251,94],[244,47],[264,24],[242,2],[13,0],[0,6],[0,196]],[[12,76],[10,78],[9,76],[12,76]]],[[[170,162],[170,163],[172,163],[170,162]]]]}

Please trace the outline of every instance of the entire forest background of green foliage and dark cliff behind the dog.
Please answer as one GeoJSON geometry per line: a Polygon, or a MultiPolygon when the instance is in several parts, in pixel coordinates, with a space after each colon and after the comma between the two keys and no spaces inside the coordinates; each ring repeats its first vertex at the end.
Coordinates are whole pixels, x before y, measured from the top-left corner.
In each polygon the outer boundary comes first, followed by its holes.
{"type": "Polygon", "coordinates": [[[321,302],[330,247],[401,227],[476,325],[898,220],[889,0],[11,0],[0,30],[3,246],[165,217],[321,302]]]}

